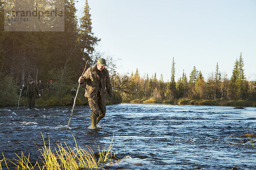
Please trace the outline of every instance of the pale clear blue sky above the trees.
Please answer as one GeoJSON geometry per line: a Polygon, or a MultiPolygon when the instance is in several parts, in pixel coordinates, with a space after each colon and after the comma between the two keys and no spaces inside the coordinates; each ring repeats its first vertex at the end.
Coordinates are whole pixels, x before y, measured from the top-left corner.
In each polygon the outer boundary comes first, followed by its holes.
{"type": "MultiPolygon", "coordinates": [[[[78,16],[85,0],[78,0],[78,16]]],[[[247,79],[256,80],[256,0],[88,0],[100,51],[121,59],[120,74],[177,80],[193,66],[205,79],[215,71],[232,75],[242,52],[247,79]]]]}

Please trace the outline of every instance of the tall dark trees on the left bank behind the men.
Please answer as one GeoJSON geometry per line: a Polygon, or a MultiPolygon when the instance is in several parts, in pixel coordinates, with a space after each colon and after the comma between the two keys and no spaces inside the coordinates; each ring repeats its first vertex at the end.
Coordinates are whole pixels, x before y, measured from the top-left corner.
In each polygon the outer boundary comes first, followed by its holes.
{"type": "MultiPolygon", "coordinates": [[[[35,2],[32,0],[30,5],[35,2]]],[[[16,1],[9,3],[15,6],[16,1]]],[[[92,31],[87,0],[80,17],[76,16],[75,1],[64,0],[64,31],[4,31],[4,9],[4,1],[0,0],[0,105],[17,104],[18,88],[28,81],[28,74],[44,85],[52,80],[54,95],[41,103],[56,105],[61,104],[61,98],[69,99],[71,88],[77,88],[87,61],[88,68],[103,57],[109,72],[115,74],[114,59],[96,50],[101,39],[92,31]]]]}

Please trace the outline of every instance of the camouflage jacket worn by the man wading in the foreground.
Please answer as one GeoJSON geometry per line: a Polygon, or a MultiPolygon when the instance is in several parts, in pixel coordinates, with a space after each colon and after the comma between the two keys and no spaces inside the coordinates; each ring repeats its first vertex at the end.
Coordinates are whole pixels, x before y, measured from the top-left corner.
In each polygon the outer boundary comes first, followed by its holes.
{"type": "Polygon", "coordinates": [[[83,82],[87,82],[84,96],[90,99],[96,99],[98,92],[100,92],[100,96],[102,102],[106,101],[106,91],[110,97],[113,97],[113,90],[110,82],[110,77],[108,74],[108,70],[104,68],[102,70],[101,75],[98,75],[97,65],[90,67],[85,71],[82,76],[83,82]],[[101,86],[101,88],[100,88],[101,86]]]}

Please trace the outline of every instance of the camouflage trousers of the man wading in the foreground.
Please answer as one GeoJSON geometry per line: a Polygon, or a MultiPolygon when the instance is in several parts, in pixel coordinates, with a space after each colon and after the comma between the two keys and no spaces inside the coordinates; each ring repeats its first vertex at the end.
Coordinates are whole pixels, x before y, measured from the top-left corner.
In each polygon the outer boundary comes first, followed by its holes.
{"type": "Polygon", "coordinates": [[[97,94],[96,99],[89,99],[88,104],[91,108],[90,117],[101,117],[103,118],[106,114],[106,101],[102,102],[100,93],[97,94]]]}

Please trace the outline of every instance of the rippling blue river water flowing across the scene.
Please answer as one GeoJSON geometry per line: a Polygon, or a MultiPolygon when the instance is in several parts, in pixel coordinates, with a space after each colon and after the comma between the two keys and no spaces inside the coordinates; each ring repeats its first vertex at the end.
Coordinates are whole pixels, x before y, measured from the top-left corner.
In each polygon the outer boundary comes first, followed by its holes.
{"type": "Polygon", "coordinates": [[[102,169],[256,170],[256,140],[238,138],[256,132],[256,108],[109,105],[99,128],[91,130],[89,106],[76,106],[70,129],[61,130],[70,111],[71,106],[0,108],[0,152],[12,159],[23,151],[36,161],[42,133],[52,145],[66,142],[70,147],[74,136],[79,146],[95,152],[113,138],[112,151],[120,161],[102,169]]]}

